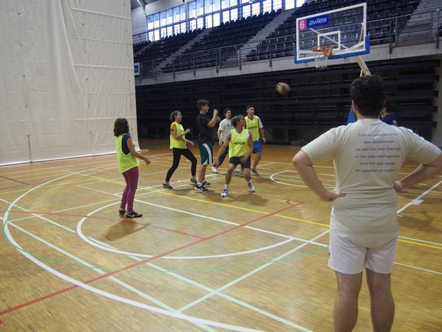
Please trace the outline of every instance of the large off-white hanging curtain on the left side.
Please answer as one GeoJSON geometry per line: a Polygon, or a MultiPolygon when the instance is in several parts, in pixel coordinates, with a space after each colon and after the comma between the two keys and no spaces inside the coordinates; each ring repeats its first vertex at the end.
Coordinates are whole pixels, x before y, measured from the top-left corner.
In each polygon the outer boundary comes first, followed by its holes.
{"type": "Polygon", "coordinates": [[[137,142],[129,0],[0,1],[0,165],[137,142]]]}

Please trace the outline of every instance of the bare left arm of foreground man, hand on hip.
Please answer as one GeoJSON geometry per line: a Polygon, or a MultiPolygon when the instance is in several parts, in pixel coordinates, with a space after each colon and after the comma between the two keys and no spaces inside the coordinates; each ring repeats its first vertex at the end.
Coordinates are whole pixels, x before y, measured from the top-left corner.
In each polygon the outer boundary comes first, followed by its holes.
{"type": "Polygon", "coordinates": [[[311,163],[309,156],[307,156],[304,151],[298,151],[298,153],[294,156],[292,162],[298,170],[299,176],[305,182],[307,187],[309,187],[309,189],[316,195],[318,195],[318,197],[323,201],[330,202],[337,197],[345,196],[345,194],[338,194],[336,192],[325,189],[323,183],[320,182],[318,176],[316,175],[316,172],[313,168],[313,163],[311,163]]]}

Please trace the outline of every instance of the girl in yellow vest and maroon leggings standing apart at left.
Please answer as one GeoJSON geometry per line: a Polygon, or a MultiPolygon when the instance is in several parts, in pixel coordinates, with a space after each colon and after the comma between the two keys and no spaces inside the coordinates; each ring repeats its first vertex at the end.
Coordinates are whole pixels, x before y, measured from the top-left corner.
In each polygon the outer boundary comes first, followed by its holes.
{"type": "Polygon", "coordinates": [[[122,203],[119,205],[119,214],[125,214],[128,218],[140,218],[143,216],[133,210],[133,199],[138,187],[138,162],[137,158],[143,159],[146,165],[151,163],[145,156],[135,150],[135,145],[129,135],[129,124],[125,118],[117,118],[113,127],[115,136],[115,149],[117,150],[118,170],[123,174],[126,181],[122,203]],[[125,210],[127,204],[127,212],[125,210]]]}

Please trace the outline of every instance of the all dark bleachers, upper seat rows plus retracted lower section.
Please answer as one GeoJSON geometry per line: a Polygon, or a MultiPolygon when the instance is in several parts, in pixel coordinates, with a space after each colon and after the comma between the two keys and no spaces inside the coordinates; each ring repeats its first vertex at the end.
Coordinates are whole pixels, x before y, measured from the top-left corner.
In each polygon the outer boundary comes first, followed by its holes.
{"type": "MultiPolygon", "coordinates": [[[[220,110],[231,107],[233,113],[244,113],[245,105],[253,104],[273,142],[308,141],[330,127],[345,124],[350,106],[349,84],[361,71],[356,64],[329,66],[323,71],[287,68],[260,72],[259,68],[263,64],[271,66],[275,59],[287,58],[293,62],[296,18],[361,2],[317,0],[289,10],[267,8],[258,15],[238,17],[213,28],[195,29],[193,35],[188,32],[164,37],[144,48],[135,44],[135,62],[145,67],[144,77],[157,80],[157,75],[175,77],[177,73],[189,73],[192,77],[186,84],[171,79],[148,85],[142,84],[140,78],[136,89],[140,133],[152,138],[168,136],[167,115],[175,109],[186,115],[183,120],[186,126],[193,127],[197,114],[195,101],[200,98],[210,100],[211,107],[220,110]],[[178,39],[182,41],[177,42],[178,39]],[[197,72],[204,68],[218,73],[222,68],[240,68],[245,63],[255,64],[253,74],[196,79],[197,72]],[[275,84],[280,81],[291,86],[286,97],[275,92],[275,84]]],[[[393,48],[430,42],[433,30],[440,25],[439,17],[436,22],[431,13],[427,19],[430,14],[425,10],[431,12],[441,2],[368,0],[367,34],[371,46],[386,46],[391,53],[393,48]]],[[[343,21],[348,23],[352,17],[334,20],[338,25],[343,21]]],[[[344,36],[354,40],[359,37],[357,27],[344,36]]],[[[384,77],[387,98],[395,106],[399,124],[430,140],[436,125],[434,97],[438,93],[439,73],[435,68],[440,66],[440,60],[378,59],[368,65],[372,73],[384,77]]]]}

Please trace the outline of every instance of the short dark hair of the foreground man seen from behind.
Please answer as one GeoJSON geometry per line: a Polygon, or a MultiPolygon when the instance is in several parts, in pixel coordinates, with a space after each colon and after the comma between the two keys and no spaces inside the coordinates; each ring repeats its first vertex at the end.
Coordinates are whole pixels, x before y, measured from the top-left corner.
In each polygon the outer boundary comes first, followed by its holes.
{"type": "Polygon", "coordinates": [[[385,86],[380,76],[365,75],[356,78],[352,82],[351,93],[362,116],[379,116],[385,101],[385,86]]]}

